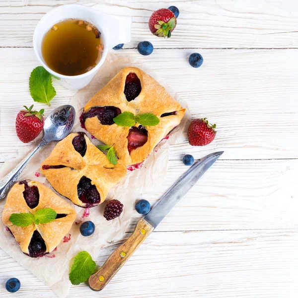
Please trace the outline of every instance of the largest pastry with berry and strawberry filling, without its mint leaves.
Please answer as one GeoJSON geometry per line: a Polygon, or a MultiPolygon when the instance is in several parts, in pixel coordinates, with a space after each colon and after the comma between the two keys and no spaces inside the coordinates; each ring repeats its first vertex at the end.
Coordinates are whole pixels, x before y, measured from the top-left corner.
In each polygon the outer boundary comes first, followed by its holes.
{"type": "Polygon", "coordinates": [[[106,145],[114,145],[117,156],[127,165],[143,162],[154,147],[183,118],[185,109],[151,76],[128,67],[114,76],[85,105],[82,127],[106,145]],[[156,126],[117,126],[113,118],[123,112],[151,113],[160,120],[156,126]]]}

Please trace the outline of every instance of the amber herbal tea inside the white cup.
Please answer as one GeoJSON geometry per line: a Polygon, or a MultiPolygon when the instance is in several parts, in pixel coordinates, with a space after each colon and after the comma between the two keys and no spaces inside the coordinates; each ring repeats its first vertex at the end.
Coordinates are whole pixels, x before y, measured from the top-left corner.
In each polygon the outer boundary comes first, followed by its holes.
{"type": "Polygon", "coordinates": [[[45,34],[43,59],[58,74],[84,74],[101,59],[103,44],[100,35],[95,26],[83,20],[63,20],[45,34]]]}

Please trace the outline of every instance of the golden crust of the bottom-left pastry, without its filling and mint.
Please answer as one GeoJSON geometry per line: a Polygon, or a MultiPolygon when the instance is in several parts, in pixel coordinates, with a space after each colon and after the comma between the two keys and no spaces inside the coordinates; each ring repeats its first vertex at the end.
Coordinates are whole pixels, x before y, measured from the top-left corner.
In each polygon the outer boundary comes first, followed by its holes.
{"type": "Polygon", "coordinates": [[[60,243],[62,238],[69,232],[76,218],[74,208],[65,200],[57,196],[52,190],[37,181],[27,180],[28,186],[36,186],[39,191],[39,203],[37,207],[31,209],[23,196],[24,184],[16,183],[7,195],[4,206],[2,221],[11,230],[15,240],[20,245],[22,252],[29,254],[29,243],[33,232],[37,230],[46,244],[46,252],[52,252],[60,243]],[[9,221],[13,213],[31,213],[34,215],[38,210],[51,208],[57,214],[66,214],[66,217],[59,218],[47,224],[30,224],[28,226],[16,226],[9,221]]]}

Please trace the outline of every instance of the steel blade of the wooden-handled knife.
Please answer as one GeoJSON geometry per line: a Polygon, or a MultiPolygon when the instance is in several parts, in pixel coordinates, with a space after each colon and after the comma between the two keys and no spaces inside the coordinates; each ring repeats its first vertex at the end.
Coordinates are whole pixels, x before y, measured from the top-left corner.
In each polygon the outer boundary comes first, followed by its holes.
{"type": "Polygon", "coordinates": [[[155,228],[223,153],[211,153],[197,161],[160,198],[144,220],[155,228]]]}

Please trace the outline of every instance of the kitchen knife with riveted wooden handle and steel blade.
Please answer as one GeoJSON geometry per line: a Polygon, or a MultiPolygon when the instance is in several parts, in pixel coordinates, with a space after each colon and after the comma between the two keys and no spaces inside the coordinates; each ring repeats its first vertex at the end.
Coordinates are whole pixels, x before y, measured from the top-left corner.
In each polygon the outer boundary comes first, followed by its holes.
{"type": "Polygon", "coordinates": [[[154,228],[223,153],[224,151],[211,153],[197,161],[170,187],[151,211],[139,220],[132,235],[108,257],[96,273],[90,276],[88,284],[92,290],[101,291],[109,283],[154,228]]]}

